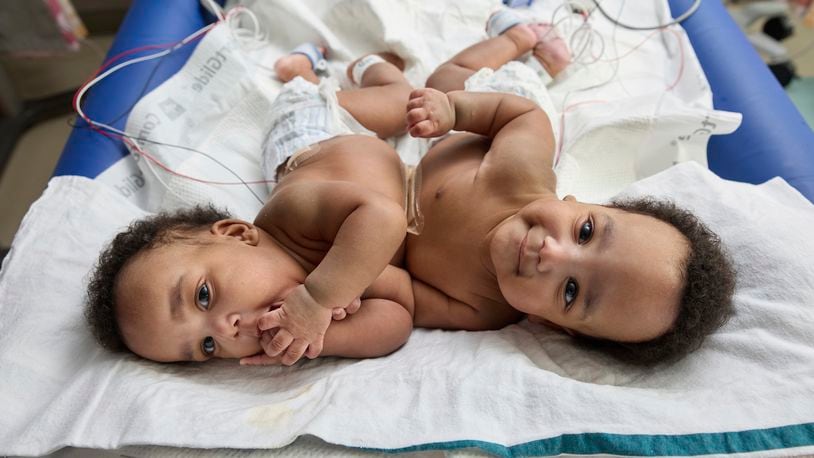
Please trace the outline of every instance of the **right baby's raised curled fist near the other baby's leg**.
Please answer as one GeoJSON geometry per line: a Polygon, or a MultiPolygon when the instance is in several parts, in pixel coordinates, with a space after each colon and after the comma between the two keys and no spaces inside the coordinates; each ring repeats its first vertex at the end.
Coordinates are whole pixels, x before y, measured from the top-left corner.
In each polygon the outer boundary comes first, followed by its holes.
{"type": "Polygon", "coordinates": [[[455,127],[455,107],[441,91],[416,89],[407,102],[407,130],[413,137],[440,137],[455,127]]]}

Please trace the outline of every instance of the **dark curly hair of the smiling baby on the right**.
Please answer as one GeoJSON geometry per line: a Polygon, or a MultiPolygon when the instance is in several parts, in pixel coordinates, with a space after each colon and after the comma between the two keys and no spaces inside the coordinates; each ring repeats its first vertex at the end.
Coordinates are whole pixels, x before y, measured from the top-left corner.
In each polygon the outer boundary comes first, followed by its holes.
{"type": "Polygon", "coordinates": [[[637,366],[669,364],[698,349],[734,313],[736,272],[721,239],[691,212],[654,198],[613,201],[611,208],[651,216],[675,227],[689,242],[681,266],[678,316],[661,336],[645,342],[615,342],[579,335],[578,341],[637,366]]]}

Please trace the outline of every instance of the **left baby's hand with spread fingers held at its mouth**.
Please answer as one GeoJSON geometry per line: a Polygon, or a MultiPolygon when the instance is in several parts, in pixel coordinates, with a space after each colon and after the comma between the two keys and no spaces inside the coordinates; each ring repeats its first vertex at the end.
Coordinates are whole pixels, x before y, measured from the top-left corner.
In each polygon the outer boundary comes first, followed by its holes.
{"type": "Polygon", "coordinates": [[[303,354],[310,359],[316,358],[322,353],[322,342],[332,315],[332,309],[320,305],[305,285],[299,285],[280,308],[257,320],[260,331],[279,328],[263,349],[268,356],[282,356],[281,362],[286,366],[296,363],[303,354]]]}

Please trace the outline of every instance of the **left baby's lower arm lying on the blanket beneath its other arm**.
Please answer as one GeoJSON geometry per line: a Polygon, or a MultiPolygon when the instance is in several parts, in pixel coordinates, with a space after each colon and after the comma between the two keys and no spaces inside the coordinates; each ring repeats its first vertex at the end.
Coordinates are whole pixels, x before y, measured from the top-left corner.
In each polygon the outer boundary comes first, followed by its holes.
{"type": "MultiPolygon", "coordinates": [[[[362,307],[342,321],[334,321],[325,332],[320,356],[375,358],[404,345],[413,329],[413,291],[409,274],[394,266],[384,271],[365,290],[362,307]]],[[[274,331],[261,337],[264,349],[271,351],[274,331]]],[[[281,357],[259,354],[243,358],[244,365],[279,364],[281,357]]]]}

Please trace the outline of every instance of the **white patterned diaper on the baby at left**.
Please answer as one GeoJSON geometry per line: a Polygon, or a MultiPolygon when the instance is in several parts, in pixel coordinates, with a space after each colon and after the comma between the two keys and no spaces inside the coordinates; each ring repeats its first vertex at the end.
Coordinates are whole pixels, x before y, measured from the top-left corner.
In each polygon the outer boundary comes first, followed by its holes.
{"type": "Polygon", "coordinates": [[[376,134],[362,126],[339,105],[333,78],[319,85],[296,77],[286,83],[271,105],[271,125],[263,144],[263,174],[277,178],[281,164],[312,145],[339,135],[376,134]]]}

